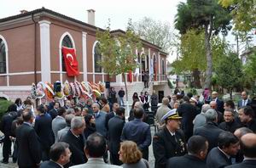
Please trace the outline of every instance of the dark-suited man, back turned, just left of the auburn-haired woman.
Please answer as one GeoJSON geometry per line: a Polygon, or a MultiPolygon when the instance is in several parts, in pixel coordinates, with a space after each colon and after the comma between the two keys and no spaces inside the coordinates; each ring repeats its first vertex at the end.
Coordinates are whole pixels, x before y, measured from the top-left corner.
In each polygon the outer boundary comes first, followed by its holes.
{"type": "MultiPolygon", "coordinates": [[[[116,103],[115,103],[116,104],[116,103]]],[[[120,137],[125,126],[125,109],[118,108],[115,116],[108,121],[108,149],[110,152],[110,162],[113,165],[122,165],[119,160],[120,137]]]]}

